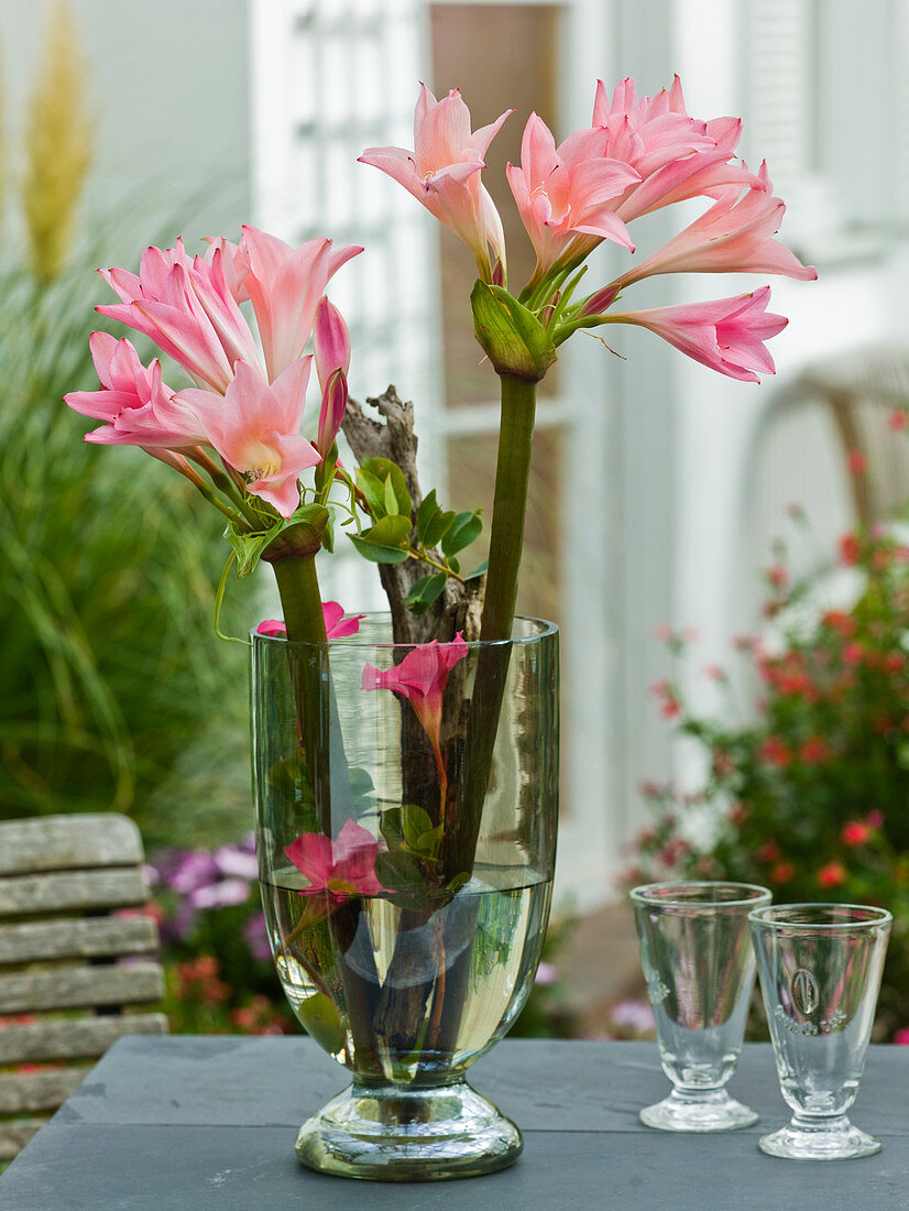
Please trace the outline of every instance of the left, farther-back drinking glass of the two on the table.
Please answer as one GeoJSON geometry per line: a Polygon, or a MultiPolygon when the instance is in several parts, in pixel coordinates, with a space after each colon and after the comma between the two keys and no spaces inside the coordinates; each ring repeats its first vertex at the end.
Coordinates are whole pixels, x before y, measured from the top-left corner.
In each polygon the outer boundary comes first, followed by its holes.
{"type": "Polygon", "coordinates": [[[758,1115],[726,1092],[754,987],[752,883],[650,883],[631,893],[663,1072],[673,1091],[640,1119],[663,1131],[731,1131],[758,1115]]]}

